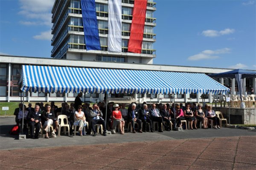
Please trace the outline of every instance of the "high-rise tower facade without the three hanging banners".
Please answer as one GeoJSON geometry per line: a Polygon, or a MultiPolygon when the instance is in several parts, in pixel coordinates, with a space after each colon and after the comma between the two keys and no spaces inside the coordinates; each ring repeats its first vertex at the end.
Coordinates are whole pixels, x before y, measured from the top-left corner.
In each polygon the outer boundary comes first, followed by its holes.
{"type": "MultiPolygon", "coordinates": [[[[94,1],[93,1],[94,2],[94,1]]],[[[108,0],[95,0],[96,20],[99,32],[100,50],[87,50],[84,37],[84,22],[81,0],[55,0],[52,8],[52,58],[64,58],[86,61],[112,61],[118,63],[153,63],[156,50],[154,27],[156,3],[147,1],[141,50],[138,53],[128,52],[128,45],[133,22],[134,0],[122,0],[122,49],[111,52],[109,47],[109,7],[108,0]]]]}

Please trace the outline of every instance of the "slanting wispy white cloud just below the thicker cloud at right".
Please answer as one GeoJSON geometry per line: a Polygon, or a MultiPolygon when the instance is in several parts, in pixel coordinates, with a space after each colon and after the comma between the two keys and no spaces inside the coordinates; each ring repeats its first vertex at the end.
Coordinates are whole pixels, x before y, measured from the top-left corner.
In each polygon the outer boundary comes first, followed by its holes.
{"type": "Polygon", "coordinates": [[[200,52],[199,54],[196,54],[196,55],[192,55],[188,58],[188,60],[191,60],[191,61],[197,61],[197,60],[204,60],[204,59],[216,59],[216,58],[219,58],[218,55],[216,54],[227,54],[227,53],[230,53],[230,50],[229,48],[223,48],[223,49],[216,49],[216,50],[204,50],[202,52],[200,52]]]}

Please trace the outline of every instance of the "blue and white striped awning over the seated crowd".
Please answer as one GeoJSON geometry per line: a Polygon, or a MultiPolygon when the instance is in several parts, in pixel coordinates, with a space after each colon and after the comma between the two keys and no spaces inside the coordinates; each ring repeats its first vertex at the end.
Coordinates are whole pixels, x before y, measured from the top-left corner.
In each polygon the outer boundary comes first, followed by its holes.
{"type": "Polygon", "coordinates": [[[22,69],[22,91],[140,94],[229,91],[201,73],[24,65],[22,69]]]}

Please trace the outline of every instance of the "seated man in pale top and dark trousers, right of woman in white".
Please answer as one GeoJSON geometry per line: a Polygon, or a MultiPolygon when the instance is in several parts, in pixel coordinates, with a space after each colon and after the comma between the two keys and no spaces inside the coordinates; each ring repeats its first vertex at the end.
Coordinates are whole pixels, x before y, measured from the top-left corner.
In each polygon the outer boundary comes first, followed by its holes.
{"type": "Polygon", "coordinates": [[[97,106],[97,104],[93,104],[93,109],[90,110],[90,118],[91,118],[91,124],[92,124],[91,126],[93,129],[93,136],[97,135],[96,129],[95,129],[96,124],[102,124],[103,130],[104,130],[103,135],[106,136],[107,135],[106,124],[104,119],[102,118],[102,111],[99,110],[99,107],[97,106]]]}

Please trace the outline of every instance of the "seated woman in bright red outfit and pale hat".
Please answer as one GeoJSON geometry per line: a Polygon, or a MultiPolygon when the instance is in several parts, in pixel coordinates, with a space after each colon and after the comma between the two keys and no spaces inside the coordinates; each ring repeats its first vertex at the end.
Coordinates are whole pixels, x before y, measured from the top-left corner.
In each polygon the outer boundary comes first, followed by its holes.
{"type": "Polygon", "coordinates": [[[120,130],[120,134],[124,134],[123,128],[125,127],[125,121],[122,118],[121,111],[119,109],[119,105],[114,105],[114,111],[112,112],[112,120],[113,120],[113,127],[118,126],[120,130]]]}

